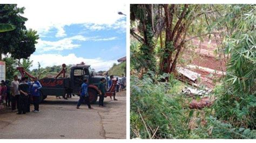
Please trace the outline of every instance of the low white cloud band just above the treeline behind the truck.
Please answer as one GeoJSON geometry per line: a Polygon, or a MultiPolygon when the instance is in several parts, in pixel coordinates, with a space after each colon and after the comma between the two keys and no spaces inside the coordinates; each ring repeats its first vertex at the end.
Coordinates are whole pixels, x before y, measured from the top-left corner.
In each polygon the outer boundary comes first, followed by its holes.
{"type": "Polygon", "coordinates": [[[30,60],[33,60],[33,66],[31,69],[38,68],[37,63],[39,62],[41,67],[62,65],[74,65],[80,62],[84,62],[86,65],[91,65],[96,71],[99,70],[109,70],[113,63],[118,63],[117,60],[107,60],[104,61],[100,58],[96,59],[85,59],[82,57],[77,57],[75,54],[69,54],[67,56],[59,54],[41,54],[41,55],[31,55],[30,60]],[[53,60],[54,59],[54,60],[53,60]]]}

